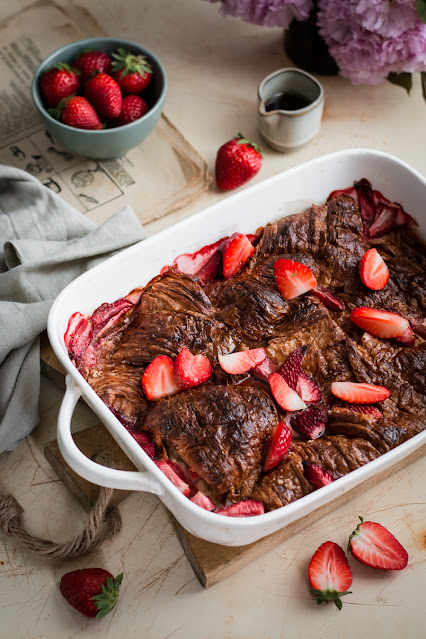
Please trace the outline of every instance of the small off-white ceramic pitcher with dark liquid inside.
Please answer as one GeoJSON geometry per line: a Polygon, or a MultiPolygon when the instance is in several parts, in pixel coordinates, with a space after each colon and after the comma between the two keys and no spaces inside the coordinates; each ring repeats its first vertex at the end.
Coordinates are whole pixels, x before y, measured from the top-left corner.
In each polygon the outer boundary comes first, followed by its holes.
{"type": "Polygon", "coordinates": [[[310,142],[320,130],[323,108],[321,84],[300,69],[279,69],[259,84],[259,131],[277,151],[310,142]]]}

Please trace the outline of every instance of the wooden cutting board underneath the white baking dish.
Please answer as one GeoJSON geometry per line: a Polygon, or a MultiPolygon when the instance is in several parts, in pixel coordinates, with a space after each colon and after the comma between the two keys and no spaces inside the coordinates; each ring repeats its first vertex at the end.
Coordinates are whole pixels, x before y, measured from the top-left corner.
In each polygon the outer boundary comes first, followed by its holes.
{"type": "MultiPolygon", "coordinates": [[[[41,340],[41,365],[42,372],[56,383],[64,386],[64,370],[59,360],[53,353],[47,335],[44,334],[41,340]]],[[[111,467],[119,470],[135,470],[135,466],[118,446],[108,430],[102,424],[97,424],[75,433],[74,440],[80,450],[89,458],[99,452],[107,453],[111,458],[111,467]]],[[[303,519],[289,524],[278,532],[269,535],[255,543],[247,546],[228,547],[212,544],[191,535],[175,521],[176,531],[182,543],[184,551],[197,575],[201,585],[205,588],[225,579],[243,566],[264,555],[266,552],[289,539],[292,535],[300,532],[350,499],[357,497],[368,488],[376,486],[380,481],[393,475],[398,470],[420,459],[426,452],[426,446],[414,451],[401,460],[392,468],[386,469],[380,475],[365,481],[360,486],[355,486],[351,490],[335,499],[332,503],[321,506],[303,519]]],[[[56,440],[45,445],[45,456],[58,476],[62,479],[66,487],[78,499],[80,504],[89,510],[95,503],[99,486],[95,486],[77,475],[63,459],[56,440]]],[[[119,504],[130,493],[116,490],[112,503],[119,504]]]]}

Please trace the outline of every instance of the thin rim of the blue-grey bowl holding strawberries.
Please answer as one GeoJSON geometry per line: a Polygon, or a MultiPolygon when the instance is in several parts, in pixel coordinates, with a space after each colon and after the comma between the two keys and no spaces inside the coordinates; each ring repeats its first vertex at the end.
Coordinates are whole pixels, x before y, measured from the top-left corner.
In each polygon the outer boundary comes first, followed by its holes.
{"type": "MultiPolygon", "coordinates": [[[[120,46],[120,45],[119,45],[120,46]]],[[[115,38],[115,37],[110,37],[110,36],[99,36],[96,38],[84,38],[83,40],[75,40],[74,42],[69,42],[68,44],[63,45],[62,47],[59,47],[58,49],[55,49],[54,51],[52,51],[52,53],[50,53],[46,58],[44,58],[44,60],[42,60],[42,62],[40,62],[40,64],[38,65],[37,69],[34,71],[33,74],[33,78],[31,81],[31,96],[33,99],[33,102],[37,108],[37,111],[40,113],[40,115],[44,118],[47,119],[47,121],[50,121],[51,123],[53,123],[54,125],[58,126],[59,128],[64,128],[66,131],[78,131],[80,134],[84,134],[84,135],[88,135],[88,136],[99,136],[99,135],[104,135],[105,134],[110,134],[110,136],[112,137],[113,135],[117,135],[117,132],[122,131],[123,129],[126,129],[127,131],[131,128],[131,127],[135,127],[138,124],[140,124],[141,122],[145,121],[148,119],[149,116],[153,116],[158,109],[162,110],[163,107],[163,102],[164,99],[166,97],[166,93],[167,93],[167,88],[168,88],[168,79],[167,79],[167,73],[166,70],[163,66],[163,63],[160,61],[160,59],[158,58],[158,56],[153,53],[150,49],[147,49],[146,47],[144,47],[141,44],[138,44],[137,42],[133,42],[131,40],[126,40],[124,38],[115,38]],[[144,52],[144,54],[146,54],[147,56],[151,56],[151,58],[155,61],[156,65],[158,66],[160,72],[161,72],[161,76],[163,79],[163,86],[161,87],[161,92],[160,95],[157,98],[157,101],[155,102],[155,104],[149,109],[149,111],[147,111],[142,117],[138,118],[137,120],[135,120],[134,122],[129,122],[129,124],[124,124],[120,127],[115,127],[112,129],[78,129],[76,127],[72,127],[69,126],[68,124],[64,124],[63,122],[61,122],[60,120],[57,120],[56,118],[54,118],[53,116],[50,115],[50,113],[47,111],[46,107],[44,106],[42,99],[41,99],[41,95],[40,95],[40,89],[39,89],[39,78],[41,76],[41,74],[44,72],[45,69],[49,68],[50,66],[52,66],[52,61],[54,58],[56,58],[58,56],[58,54],[61,54],[62,52],[65,52],[67,49],[69,49],[69,47],[71,46],[75,46],[75,45],[81,45],[81,48],[84,49],[85,47],[89,46],[89,45],[93,45],[96,42],[102,43],[102,42],[120,42],[122,43],[123,46],[129,46],[130,48],[135,48],[135,49],[140,49],[144,52]]]]}

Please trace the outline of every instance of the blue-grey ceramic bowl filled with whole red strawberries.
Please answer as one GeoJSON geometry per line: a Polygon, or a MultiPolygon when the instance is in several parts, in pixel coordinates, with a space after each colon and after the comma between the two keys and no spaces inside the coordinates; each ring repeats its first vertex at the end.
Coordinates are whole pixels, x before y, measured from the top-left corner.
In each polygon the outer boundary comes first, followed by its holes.
{"type": "Polygon", "coordinates": [[[106,160],[151,133],[161,115],[167,75],[158,57],[120,38],[89,38],[49,55],[32,97],[47,130],[75,153],[106,160]]]}

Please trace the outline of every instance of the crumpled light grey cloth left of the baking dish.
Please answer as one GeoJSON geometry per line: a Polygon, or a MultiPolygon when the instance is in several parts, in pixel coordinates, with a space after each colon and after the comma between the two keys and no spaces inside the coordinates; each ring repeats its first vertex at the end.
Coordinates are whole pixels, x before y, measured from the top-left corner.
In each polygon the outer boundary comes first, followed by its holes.
{"type": "Polygon", "coordinates": [[[0,165],[0,452],[38,424],[39,334],[55,297],[144,238],[129,207],[97,226],[25,171],[0,165]]]}

